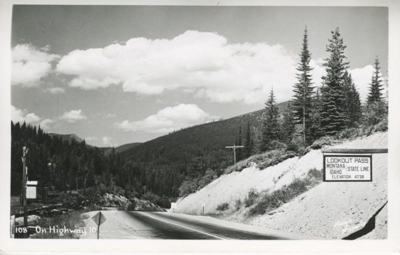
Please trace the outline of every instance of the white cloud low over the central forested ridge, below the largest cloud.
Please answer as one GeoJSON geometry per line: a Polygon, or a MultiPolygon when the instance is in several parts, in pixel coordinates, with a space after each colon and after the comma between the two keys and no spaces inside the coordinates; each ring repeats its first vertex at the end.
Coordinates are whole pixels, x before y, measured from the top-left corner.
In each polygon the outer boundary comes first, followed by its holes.
{"type": "Polygon", "coordinates": [[[115,126],[124,131],[145,131],[151,133],[167,133],[182,127],[204,123],[215,118],[204,112],[195,104],[179,104],[157,111],[143,120],[123,120],[115,126]]]}

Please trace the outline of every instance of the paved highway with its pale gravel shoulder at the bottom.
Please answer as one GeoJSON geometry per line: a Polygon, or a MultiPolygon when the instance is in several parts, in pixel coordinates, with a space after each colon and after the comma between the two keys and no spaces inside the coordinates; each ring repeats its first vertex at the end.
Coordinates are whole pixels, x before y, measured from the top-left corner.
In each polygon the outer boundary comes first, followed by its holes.
{"type": "MultiPolygon", "coordinates": [[[[249,225],[204,216],[144,211],[101,212],[106,221],[100,225],[100,239],[289,239],[282,234],[248,230],[252,227],[249,225]]],[[[88,230],[89,227],[96,228],[90,218],[95,213],[85,213],[87,234],[80,238],[97,237],[88,230]]]]}

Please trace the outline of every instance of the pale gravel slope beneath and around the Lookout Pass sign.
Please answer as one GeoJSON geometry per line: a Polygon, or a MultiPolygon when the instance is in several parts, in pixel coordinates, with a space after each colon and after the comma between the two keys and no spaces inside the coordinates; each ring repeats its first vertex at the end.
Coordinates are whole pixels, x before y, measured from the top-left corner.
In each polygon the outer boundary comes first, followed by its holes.
{"type": "MultiPolygon", "coordinates": [[[[386,148],[387,132],[333,147],[386,148]]],[[[372,176],[372,182],[322,182],[250,223],[299,234],[343,238],[362,228],[387,201],[387,153],[372,155],[372,176]]],[[[382,215],[384,217],[384,212],[382,215]]],[[[387,215],[385,220],[387,222],[387,215]]],[[[385,220],[379,218],[378,221],[385,220]]],[[[376,225],[385,227],[384,223],[376,225]]]]}

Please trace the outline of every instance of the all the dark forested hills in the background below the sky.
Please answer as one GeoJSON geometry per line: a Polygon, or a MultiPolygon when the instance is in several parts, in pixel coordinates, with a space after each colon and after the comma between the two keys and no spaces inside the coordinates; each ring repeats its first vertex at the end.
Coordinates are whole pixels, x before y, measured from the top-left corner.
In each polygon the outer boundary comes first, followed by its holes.
{"type": "Polygon", "coordinates": [[[87,145],[79,137],[73,138],[75,135],[47,134],[40,127],[11,122],[11,194],[21,191],[20,158],[26,146],[28,179],[38,180],[39,195],[45,186],[60,191],[75,189],[78,178],[79,188],[86,179],[87,188],[117,185],[136,196],[146,189],[149,199],[157,195],[177,197],[188,175],[203,176],[207,169],[219,175],[220,169],[232,164],[232,151],[225,146],[242,143],[237,137],[247,123],[253,138],[262,125],[263,112],[187,127],[144,143],[107,150],[87,145]]]}

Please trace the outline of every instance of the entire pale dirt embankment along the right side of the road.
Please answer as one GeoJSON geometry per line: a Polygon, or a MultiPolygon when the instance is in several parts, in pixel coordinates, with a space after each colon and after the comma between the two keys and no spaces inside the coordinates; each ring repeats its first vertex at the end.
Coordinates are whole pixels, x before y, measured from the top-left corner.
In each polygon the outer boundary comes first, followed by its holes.
{"type": "MultiPolygon", "coordinates": [[[[387,148],[387,132],[332,147],[387,148]]],[[[273,191],[289,184],[295,177],[305,176],[313,167],[322,168],[320,150],[311,150],[300,158],[289,158],[265,169],[252,166],[222,175],[196,193],[180,199],[174,211],[200,214],[204,203],[204,213],[216,213],[218,204],[227,202],[234,207],[234,201],[244,199],[250,188],[273,191]]],[[[245,221],[322,238],[385,238],[387,153],[372,155],[372,179],[371,182],[322,182],[277,209],[245,221]]],[[[240,213],[243,216],[245,210],[240,213]]],[[[237,220],[237,217],[230,219],[237,220]]]]}

